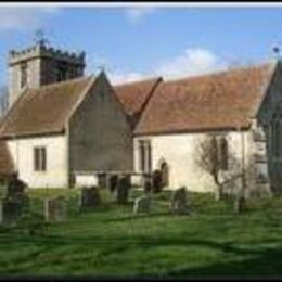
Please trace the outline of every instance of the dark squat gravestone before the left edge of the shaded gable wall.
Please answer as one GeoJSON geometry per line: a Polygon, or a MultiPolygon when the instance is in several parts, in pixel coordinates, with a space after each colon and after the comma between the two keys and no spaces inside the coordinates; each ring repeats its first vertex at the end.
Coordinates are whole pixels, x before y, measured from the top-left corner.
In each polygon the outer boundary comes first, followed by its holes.
{"type": "Polygon", "coordinates": [[[80,192],[80,209],[97,207],[101,203],[99,189],[97,187],[82,188],[80,192]]]}

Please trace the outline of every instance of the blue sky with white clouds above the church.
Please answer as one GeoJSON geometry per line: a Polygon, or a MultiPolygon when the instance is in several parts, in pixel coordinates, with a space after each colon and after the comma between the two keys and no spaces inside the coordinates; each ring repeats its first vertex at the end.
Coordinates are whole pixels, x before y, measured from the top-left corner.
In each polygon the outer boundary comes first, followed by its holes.
{"type": "Polygon", "coordinates": [[[262,62],[282,47],[282,7],[1,7],[0,85],[10,49],[43,28],[53,47],[86,51],[87,74],[103,66],[114,84],[178,78],[262,62]]]}

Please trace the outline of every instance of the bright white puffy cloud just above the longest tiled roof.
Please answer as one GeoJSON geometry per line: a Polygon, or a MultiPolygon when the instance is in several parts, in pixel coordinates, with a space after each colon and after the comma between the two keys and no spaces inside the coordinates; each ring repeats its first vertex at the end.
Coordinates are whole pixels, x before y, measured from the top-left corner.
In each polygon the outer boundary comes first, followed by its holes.
{"type": "Polygon", "coordinates": [[[226,68],[226,62],[206,49],[187,49],[182,54],[156,67],[157,75],[166,79],[203,75],[226,68]]]}

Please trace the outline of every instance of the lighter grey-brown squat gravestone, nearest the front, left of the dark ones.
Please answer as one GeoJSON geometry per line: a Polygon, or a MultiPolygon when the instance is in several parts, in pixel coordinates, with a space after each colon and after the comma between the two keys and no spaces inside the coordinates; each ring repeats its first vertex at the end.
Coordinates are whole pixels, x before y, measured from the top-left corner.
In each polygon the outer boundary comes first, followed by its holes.
{"type": "Polygon", "coordinates": [[[48,222],[62,222],[66,219],[66,203],[63,196],[44,201],[44,219],[48,222]]]}

